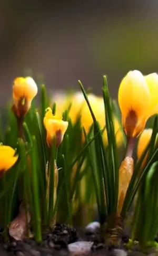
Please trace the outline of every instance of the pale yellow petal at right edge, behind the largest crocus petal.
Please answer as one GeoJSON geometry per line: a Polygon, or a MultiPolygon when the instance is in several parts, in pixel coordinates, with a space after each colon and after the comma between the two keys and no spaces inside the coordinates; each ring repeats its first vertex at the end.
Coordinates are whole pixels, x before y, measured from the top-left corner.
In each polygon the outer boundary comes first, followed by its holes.
{"type": "Polygon", "coordinates": [[[147,118],[149,118],[155,113],[158,113],[158,75],[156,73],[152,73],[146,75],[144,78],[147,83],[147,87],[149,88],[151,97],[150,106],[147,111],[147,118]]]}

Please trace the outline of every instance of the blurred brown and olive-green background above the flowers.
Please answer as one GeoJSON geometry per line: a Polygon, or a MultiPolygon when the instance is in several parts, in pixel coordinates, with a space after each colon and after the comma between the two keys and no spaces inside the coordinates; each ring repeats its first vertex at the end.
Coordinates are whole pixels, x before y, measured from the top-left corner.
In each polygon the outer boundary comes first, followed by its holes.
{"type": "Polygon", "coordinates": [[[156,0],[1,0],[0,105],[12,82],[32,69],[48,89],[101,94],[103,74],[113,98],[132,69],[158,72],[156,0]]]}

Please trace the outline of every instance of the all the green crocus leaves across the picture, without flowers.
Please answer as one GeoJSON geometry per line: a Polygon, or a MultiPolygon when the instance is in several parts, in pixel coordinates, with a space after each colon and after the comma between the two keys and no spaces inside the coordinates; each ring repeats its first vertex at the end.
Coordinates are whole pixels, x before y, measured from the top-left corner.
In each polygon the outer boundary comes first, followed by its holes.
{"type": "MultiPolygon", "coordinates": [[[[80,113],[73,124],[69,117],[70,105],[63,112],[63,120],[68,121],[68,129],[57,149],[55,139],[51,149],[46,143],[43,118],[51,101],[46,95],[45,86],[41,86],[40,108],[36,109],[33,101],[32,108],[25,117],[23,129],[26,142],[23,138],[18,138],[17,120],[11,111],[11,106],[8,106],[1,115],[0,141],[4,145],[16,148],[19,156],[15,166],[0,179],[0,206],[3,209],[0,214],[0,224],[5,231],[8,224],[18,214],[19,204],[22,201],[25,202],[26,208],[29,205],[31,225],[37,241],[41,241],[43,230],[52,225],[54,217],[57,222],[73,225],[77,211],[95,203],[101,226],[104,226],[106,222],[108,229],[115,227],[120,150],[116,144],[114,114],[118,116],[120,113],[116,103],[111,100],[104,76],[103,99],[106,126],[100,129],[87,93],[80,81],[79,84],[90,109],[93,124],[87,134],[81,125],[80,113]],[[105,129],[107,147],[104,145],[102,136],[105,129]],[[55,163],[58,168],[57,186],[55,185],[55,163]]],[[[56,102],[54,102],[52,107],[54,114],[56,107],[56,102]]],[[[154,241],[158,231],[156,134],[157,116],[151,141],[134,166],[121,212],[122,219],[125,220],[137,194],[133,218],[133,239],[138,239],[143,245],[154,241]],[[142,168],[147,152],[149,152],[147,162],[142,168]]],[[[4,234],[7,235],[7,232],[4,234]]]]}

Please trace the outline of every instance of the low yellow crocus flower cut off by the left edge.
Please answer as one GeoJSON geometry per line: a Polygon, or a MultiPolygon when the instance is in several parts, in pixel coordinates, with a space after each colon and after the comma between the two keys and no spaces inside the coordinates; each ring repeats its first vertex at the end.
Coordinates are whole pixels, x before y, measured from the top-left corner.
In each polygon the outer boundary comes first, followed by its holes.
{"type": "Polygon", "coordinates": [[[10,169],[17,161],[15,150],[12,147],[0,145],[0,176],[10,169]]]}

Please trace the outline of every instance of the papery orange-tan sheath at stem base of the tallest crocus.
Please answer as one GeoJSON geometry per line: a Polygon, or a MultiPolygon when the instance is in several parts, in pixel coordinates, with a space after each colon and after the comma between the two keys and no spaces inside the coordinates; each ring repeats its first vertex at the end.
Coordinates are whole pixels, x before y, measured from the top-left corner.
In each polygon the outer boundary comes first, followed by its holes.
{"type": "Polygon", "coordinates": [[[119,169],[118,206],[117,213],[121,213],[127,188],[133,174],[134,161],[132,157],[125,157],[119,169]]]}

